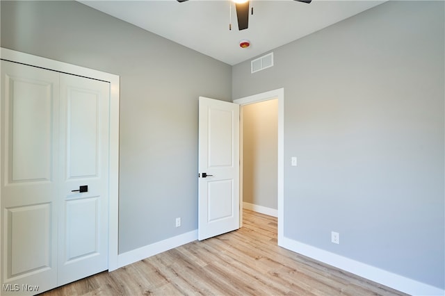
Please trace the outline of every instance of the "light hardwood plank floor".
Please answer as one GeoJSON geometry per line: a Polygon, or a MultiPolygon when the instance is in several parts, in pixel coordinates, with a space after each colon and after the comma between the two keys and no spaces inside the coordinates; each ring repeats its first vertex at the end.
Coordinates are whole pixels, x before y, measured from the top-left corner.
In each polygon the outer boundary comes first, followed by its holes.
{"type": "Polygon", "coordinates": [[[243,227],[43,293],[56,295],[405,295],[277,246],[277,219],[243,227]]]}

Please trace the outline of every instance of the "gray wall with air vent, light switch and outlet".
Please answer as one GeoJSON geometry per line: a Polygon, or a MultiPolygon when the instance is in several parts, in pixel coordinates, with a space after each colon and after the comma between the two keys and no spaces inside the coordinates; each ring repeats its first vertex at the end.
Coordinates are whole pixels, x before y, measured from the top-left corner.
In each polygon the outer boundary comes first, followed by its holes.
{"type": "Polygon", "coordinates": [[[444,34],[389,1],[232,68],[234,99],[284,87],[284,236],[444,289],[444,34]]]}

